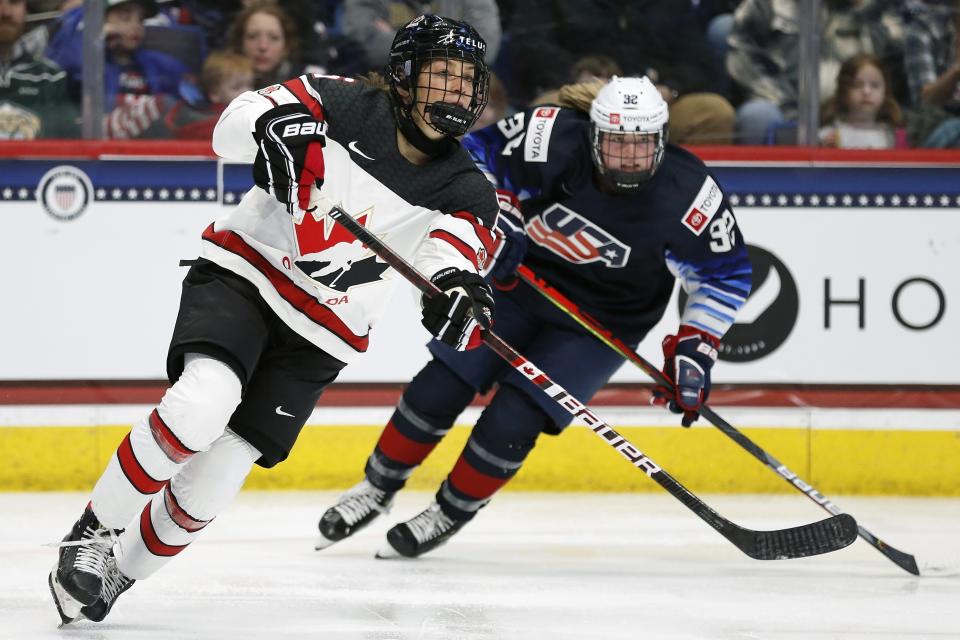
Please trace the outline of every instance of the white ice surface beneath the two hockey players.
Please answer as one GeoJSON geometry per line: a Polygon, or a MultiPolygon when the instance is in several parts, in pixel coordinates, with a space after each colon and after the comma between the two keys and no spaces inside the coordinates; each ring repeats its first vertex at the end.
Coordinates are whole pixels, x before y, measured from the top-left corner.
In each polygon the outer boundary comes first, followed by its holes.
{"type": "MultiPolygon", "coordinates": [[[[858,540],[760,562],[670,496],[506,493],[445,547],[376,560],[425,493],[323,552],[327,492],[245,492],[103,623],[58,629],[46,575],[84,494],[0,494],[0,638],[335,640],[960,638],[960,500],[832,496],[917,556],[913,577],[858,540]]],[[[800,495],[701,496],[753,529],[827,514],[800,495]]]]}

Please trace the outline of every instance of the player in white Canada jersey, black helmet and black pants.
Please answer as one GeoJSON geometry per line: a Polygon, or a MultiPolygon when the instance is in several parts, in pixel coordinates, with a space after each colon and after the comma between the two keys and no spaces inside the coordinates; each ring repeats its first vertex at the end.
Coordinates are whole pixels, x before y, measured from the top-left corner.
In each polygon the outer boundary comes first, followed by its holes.
{"type": "Polygon", "coordinates": [[[453,350],[480,343],[497,197],[457,138],[487,101],[485,49],[466,23],[420,16],[394,39],[389,92],[304,75],[227,107],[214,150],[251,163],[256,187],[204,231],[167,357],[173,386],[64,538],[48,579],[64,624],[102,620],[199,535],[254,463],[284,460],[323,389],[366,350],[395,274],[324,203],[431,277],[444,293],[423,301],[433,335],[453,350]]]}

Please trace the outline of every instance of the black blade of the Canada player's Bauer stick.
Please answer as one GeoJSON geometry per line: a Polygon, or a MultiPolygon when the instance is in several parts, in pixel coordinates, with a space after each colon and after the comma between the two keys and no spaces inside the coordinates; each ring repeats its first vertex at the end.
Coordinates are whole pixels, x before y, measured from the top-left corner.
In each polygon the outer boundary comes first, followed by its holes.
{"type": "Polygon", "coordinates": [[[751,533],[752,544],[738,546],[755,560],[787,560],[830,553],[850,546],[858,535],[857,521],[848,513],[790,529],[751,533]]]}

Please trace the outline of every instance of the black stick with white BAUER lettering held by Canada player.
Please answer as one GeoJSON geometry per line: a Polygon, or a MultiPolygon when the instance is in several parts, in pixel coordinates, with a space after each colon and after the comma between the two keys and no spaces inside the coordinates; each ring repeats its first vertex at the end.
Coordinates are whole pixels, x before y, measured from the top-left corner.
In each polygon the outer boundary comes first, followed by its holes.
{"type": "MultiPolygon", "coordinates": [[[[330,217],[343,225],[354,237],[363,242],[381,260],[393,267],[424,295],[436,295],[440,290],[417,271],[413,265],[397,255],[368,229],[361,226],[340,207],[333,207],[330,217]]],[[[803,558],[842,549],[857,539],[857,522],[846,513],[832,516],[790,529],[754,531],[745,529],[721,516],[693,495],[657,463],[633,446],[613,427],[600,419],[588,407],[567,393],[513,347],[492,331],[484,332],[484,343],[498,356],[506,360],[521,375],[540,387],[547,396],[563,407],[574,418],[583,421],[609,446],[616,449],[630,464],[645,472],[657,484],[697,514],[720,535],[738,549],[756,560],[781,560],[803,558]]]]}

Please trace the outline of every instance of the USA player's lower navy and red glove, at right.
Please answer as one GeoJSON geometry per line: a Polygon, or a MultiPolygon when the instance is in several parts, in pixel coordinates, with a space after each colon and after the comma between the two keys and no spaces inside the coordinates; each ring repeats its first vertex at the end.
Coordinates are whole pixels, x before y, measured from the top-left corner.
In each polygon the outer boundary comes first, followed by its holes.
{"type": "Polygon", "coordinates": [[[680,325],[677,335],[664,338],[663,376],[674,386],[657,385],[651,403],[682,413],[681,424],[692,425],[710,396],[710,369],[717,361],[719,344],[713,336],[686,325],[680,325]]]}

